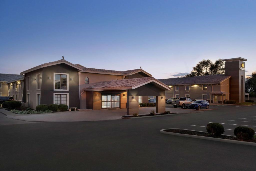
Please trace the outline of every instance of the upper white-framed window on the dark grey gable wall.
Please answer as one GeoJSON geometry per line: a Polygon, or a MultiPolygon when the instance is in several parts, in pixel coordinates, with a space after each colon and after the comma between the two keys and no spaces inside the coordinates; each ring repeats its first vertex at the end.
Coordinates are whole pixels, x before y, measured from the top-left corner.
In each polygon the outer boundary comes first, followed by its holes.
{"type": "Polygon", "coordinates": [[[68,74],[66,73],[53,73],[54,74],[54,90],[55,91],[68,91],[68,74]]]}

